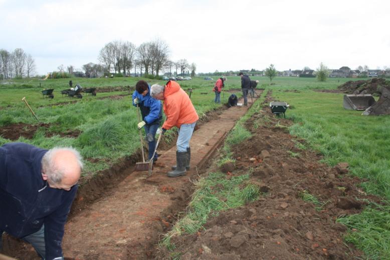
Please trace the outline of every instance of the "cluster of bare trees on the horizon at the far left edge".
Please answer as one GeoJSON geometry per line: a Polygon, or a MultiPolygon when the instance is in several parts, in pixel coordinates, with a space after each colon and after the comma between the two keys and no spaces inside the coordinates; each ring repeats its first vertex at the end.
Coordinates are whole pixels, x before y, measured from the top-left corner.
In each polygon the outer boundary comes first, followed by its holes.
{"type": "Polygon", "coordinates": [[[0,50],[0,78],[30,77],[35,72],[35,61],[31,54],[18,48],[12,52],[0,50]]]}

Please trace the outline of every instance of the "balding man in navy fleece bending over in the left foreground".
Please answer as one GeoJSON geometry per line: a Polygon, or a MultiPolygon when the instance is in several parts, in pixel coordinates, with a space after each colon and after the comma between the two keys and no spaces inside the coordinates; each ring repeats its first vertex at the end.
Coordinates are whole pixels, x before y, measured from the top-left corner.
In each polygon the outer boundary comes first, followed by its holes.
{"type": "Polygon", "coordinates": [[[73,148],[1,146],[0,238],[5,231],[30,242],[43,259],[64,259],[64,226],[82,168],[73,148]]]}

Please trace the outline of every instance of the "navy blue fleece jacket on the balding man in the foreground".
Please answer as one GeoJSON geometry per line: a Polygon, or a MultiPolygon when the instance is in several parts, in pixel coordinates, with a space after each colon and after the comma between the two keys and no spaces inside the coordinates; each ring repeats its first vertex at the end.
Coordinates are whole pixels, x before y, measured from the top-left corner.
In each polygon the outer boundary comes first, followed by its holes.
{"type": "Polygon", "coordinates": [[[42,178],[41,160],[48,150],[25,143],[0,147],[0,231],[18,238],[45,224],[46,259],[62,256],[64,225],[76,195],[50,188],[42,178]]]}

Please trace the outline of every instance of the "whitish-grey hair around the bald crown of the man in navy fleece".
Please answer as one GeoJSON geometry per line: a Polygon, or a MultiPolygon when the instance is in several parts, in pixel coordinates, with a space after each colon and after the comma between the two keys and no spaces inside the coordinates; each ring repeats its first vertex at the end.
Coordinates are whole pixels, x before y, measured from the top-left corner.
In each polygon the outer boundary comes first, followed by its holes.
{"type": "Polygon", "coordinates": [[[42,157],[42,169],[48,178],[56,184],[61,183],[66,172],[66,167],[57,165],[54,160],[55,155],[60,151],[69,151],[73,153],[73,155],[76,157],[77,164],[80,166],[80,169],[82,170],[84,167],[82,157],[76,149],[72,147],[54,147],[50,149],[42,157]]]}

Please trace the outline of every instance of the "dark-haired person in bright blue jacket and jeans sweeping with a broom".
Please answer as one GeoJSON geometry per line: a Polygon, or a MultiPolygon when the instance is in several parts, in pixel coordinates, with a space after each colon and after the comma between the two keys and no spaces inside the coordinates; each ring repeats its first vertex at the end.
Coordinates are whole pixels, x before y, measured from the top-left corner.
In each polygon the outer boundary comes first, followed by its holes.
{"type": "MultiPolygon", "coordinates": [[[[144,80],[140,80],[135,84],[133,93],[133,106],[139,106],[142,114],[142,121],[137,124],[137,128],[142,127],[146,133],[146,140],[149,146],[149,160],[153,156],[156,148],[156,131],[162,120],[161,102],[150,96],[150,86],[144,80]]],[[[153,161],[157,161],[157,153],[154,155],[153,161]]]]}

